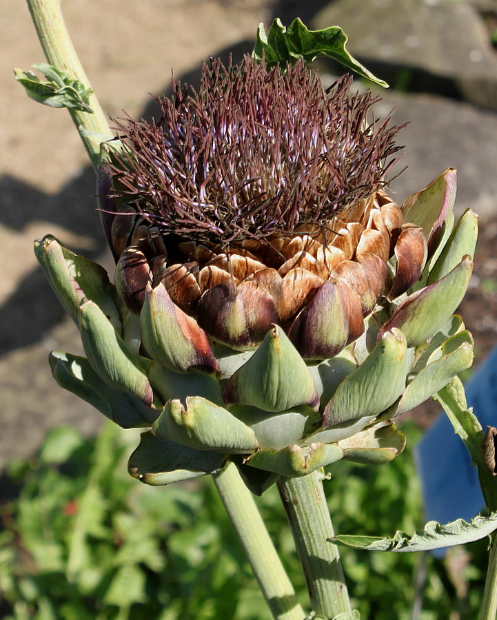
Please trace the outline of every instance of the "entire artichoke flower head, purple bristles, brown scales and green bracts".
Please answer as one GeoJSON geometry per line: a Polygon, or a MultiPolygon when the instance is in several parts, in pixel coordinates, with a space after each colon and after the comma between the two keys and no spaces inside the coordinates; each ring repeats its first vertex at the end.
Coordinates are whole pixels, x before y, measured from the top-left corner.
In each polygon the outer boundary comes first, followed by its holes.
{"type": "Polygon", "coordinates": [[[254,493],[339,459],[403,451],[396,415],[467,369],[454,315],[477,218],[454,226],[456,172],[399,206],[399,127],[376,99],[326,90],[300,61],[204,65],[157,122],[116,121],[99,209],[116,259],[51,236],[36,254],[86,357],[53,352],[61,386],[146,427],[130,473],[154,485],[232,460],[254,493]]]}

